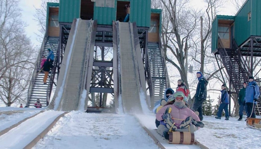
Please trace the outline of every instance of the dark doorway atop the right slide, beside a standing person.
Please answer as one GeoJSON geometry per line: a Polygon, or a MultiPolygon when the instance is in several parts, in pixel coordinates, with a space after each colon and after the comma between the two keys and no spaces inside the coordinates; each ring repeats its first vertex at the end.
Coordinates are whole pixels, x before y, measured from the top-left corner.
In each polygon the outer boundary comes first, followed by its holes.
{"type": "Polygon", "coordinates": [[[128,1],[117,1],[117,13],[116,13],[116,20],[123,22],[127,13],[125,5],[129,5],[130,2],[128,1]]]}

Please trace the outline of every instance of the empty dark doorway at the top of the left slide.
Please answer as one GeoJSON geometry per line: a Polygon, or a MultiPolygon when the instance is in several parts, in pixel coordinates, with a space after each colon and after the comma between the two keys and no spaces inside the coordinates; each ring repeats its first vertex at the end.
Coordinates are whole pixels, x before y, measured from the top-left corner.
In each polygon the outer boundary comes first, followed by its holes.
{"type": "Polygon", "coordinates": [[[93,20],[94,2],[91,0],[81,0],[81,14],[82,20],[93,20]]]}

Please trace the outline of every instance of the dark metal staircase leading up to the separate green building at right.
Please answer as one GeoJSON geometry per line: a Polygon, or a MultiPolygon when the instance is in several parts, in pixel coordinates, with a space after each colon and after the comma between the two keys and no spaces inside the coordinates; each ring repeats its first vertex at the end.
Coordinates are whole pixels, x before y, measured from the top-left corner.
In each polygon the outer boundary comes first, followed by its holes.
{"type": "MultiPolygon", "coordinates": [[[[243,87],[243,82],[248,82],[250,69],[244,62],[244,58],[241,55],[240,49],[233,40],[232,48],[224,48],[222,41],[218,38],[218,49],[215,54],[220,54],[222,62],[227,70],[230,81],[238,94],[240,89],[243,87]]],[[[258,100],[259,111],[261,111],[260,99],[258,100]]],[[[256,107],[258,113],[258,108],[256,107]]],[[[259,113],[258,113],[259,115],[259,113]]]]}

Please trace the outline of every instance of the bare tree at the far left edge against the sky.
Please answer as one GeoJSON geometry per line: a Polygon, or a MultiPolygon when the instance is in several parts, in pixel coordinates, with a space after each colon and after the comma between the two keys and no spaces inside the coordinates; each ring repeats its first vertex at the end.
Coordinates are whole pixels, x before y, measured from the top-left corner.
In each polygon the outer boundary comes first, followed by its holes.
{"type": "Polygon", "coordinates": [[[17,0],[0,0],[0,97],[7,106],[22,99],[34,64],[17,0]]]}

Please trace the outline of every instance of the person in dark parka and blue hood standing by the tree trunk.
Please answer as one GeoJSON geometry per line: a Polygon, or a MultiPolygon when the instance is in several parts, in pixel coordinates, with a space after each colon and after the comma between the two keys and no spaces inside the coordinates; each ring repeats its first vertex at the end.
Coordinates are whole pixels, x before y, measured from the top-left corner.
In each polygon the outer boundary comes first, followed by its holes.
{"type": "Polygon", "coordinates": [[[207,79],[203,76],[203,74],[199,71],[197,72],[198,85],[195,94],[195,101],[193,104],[193,111],[199,112],[200,121],[203,120],[203,112],[202,112],[202,103],[207,99],[207,79]]]}

